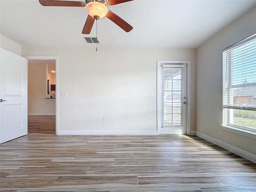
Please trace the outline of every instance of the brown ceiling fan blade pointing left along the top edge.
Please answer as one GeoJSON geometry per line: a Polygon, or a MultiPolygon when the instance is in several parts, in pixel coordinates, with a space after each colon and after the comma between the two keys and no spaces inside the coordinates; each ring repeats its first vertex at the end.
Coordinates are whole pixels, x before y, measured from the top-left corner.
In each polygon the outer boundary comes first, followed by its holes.
{"type": "Polygon", "coordinates": [[[39,0],[42,6],[84,7],[86,4],[79,1],[39,0]]]}

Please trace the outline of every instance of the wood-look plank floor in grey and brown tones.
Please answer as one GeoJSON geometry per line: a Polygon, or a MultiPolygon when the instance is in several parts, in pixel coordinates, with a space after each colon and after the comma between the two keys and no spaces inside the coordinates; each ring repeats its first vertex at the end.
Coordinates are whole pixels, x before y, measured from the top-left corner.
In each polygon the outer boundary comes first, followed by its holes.
{"type": "Polygon", "coordinates": [[[0,145],[2,192],[256,192],[256,164],[197,136],[56,136],[55,116],[0,145]]]}

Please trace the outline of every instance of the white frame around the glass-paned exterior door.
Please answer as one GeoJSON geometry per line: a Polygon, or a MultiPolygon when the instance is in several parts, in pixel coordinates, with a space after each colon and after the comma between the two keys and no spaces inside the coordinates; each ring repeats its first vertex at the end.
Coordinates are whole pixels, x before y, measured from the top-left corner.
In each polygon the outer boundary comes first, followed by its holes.
{"type": "Polygon", "coordinates": [[[175,60],[157,60],[157,133],[160,134],[161,127],[161,65],[163,64],[177,64],[187,66],[187,76],[186,76],[186,95],[187,95],[187,108],[186,108],[186,134],[190,135],[190,111],[191,111],[191,61],[175,61],[175,60]]]}

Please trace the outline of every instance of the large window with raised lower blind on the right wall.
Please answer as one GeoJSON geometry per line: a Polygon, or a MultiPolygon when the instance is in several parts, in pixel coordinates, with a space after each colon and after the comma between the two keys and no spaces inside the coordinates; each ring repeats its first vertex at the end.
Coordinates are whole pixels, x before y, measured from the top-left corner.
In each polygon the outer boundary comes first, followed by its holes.
{"type": "Polygon", "coordinates": [[[256,132],[256,35],[223,50],[222,125],[256,132]]]}

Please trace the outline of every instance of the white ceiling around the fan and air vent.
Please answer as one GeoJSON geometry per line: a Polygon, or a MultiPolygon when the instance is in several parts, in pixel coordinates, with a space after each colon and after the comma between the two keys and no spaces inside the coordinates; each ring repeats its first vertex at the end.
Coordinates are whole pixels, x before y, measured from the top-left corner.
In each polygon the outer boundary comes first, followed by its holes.
{"type": "MultiPolygon", "coordinates": [[[[196,48],[256,6],[246,0],[134,0],[108,6],[131,26],[126,33],[98,20],[100,46],[196,48]]],[[[22,46],[95,46],[82,36],[82,7],[44,7],[38,0],[0,0],[0,33],[22,46]]]]}

